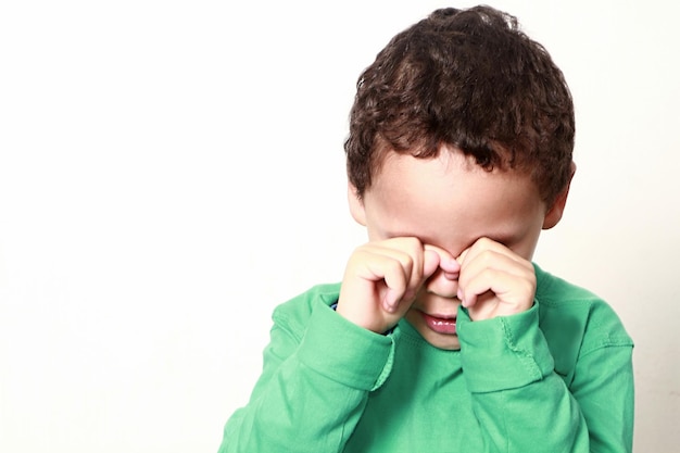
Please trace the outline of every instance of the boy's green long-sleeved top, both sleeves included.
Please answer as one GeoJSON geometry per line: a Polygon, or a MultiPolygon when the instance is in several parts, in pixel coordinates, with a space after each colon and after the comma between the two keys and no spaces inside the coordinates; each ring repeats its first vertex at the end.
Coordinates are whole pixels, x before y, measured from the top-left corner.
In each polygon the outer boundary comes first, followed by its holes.
{"type": "Polygon", "coordinates": [[[351,324],[330,307],[339,285],[279,305],[219,452],[630,452],[630,337],[601,299],[536,270],[529,311],[459,310],[459,351],[405,319],[387,336],[351,324]]]}

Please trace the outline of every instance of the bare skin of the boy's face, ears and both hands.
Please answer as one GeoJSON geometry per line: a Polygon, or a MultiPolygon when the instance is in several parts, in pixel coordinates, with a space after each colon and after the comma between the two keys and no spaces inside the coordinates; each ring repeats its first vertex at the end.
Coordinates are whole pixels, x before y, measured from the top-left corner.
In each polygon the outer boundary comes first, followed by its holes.
{"type": "Polygon", "coordinates": [[[568,185],[546,206],[528,175],[487,172],[444,148],[429,160],[390,153],[363,197],[348,193],[368,242],[348,261],[337,312],[379,334],[405,317],[433,347],[457,350],[461,304],[473,320],[531,307],[531,256],[562,218],[568,185]]]}

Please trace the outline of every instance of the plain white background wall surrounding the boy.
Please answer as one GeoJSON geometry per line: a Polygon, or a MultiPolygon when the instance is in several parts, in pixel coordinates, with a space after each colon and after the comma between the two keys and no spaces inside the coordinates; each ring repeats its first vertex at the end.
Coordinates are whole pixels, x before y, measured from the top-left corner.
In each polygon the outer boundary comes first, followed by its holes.
{"type": "MultiPolygon", "coordinates": [[[[536,260],[619,313],[635,450],[677,451],[680,8],[491,4],[577,108],[566,217],[536,260]]],[[[364,241],[342,151],[358,73],[443,5],[1,3],[0,451],[217,450],[274,306],[364,241]]]]}

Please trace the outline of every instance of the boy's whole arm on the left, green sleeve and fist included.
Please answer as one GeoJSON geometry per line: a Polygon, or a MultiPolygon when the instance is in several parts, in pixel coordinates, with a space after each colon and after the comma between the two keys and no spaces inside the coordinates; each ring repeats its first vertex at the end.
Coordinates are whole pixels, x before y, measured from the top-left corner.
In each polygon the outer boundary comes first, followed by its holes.
{"type": "MultiPolygon", "coordinates": [[[[441,264],[416,238],[369,242],[350,256],[337,312],[323,297],[311,315],[278,310],[262,377],[228,420],[219,452],[342,451],[368,392],[391,369],[392,339],[381,334],[441,264]]],[[[457,270],[453,257],[443,265],[457,270]]]]}

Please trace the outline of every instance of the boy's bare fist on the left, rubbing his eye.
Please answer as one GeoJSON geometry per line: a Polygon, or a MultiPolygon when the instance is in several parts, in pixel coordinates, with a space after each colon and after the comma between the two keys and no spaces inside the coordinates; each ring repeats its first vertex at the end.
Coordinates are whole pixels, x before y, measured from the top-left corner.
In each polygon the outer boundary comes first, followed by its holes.
{"type": "Polygon", "coordinates": [[[357,248],[347,265],[337,312],[383,334],[406,313],[423,282],[440,265],[446,267],[444,272],[458,272],[453,256],[442,261],[445,253],[416,238],[392,238],[357,248]]]}

